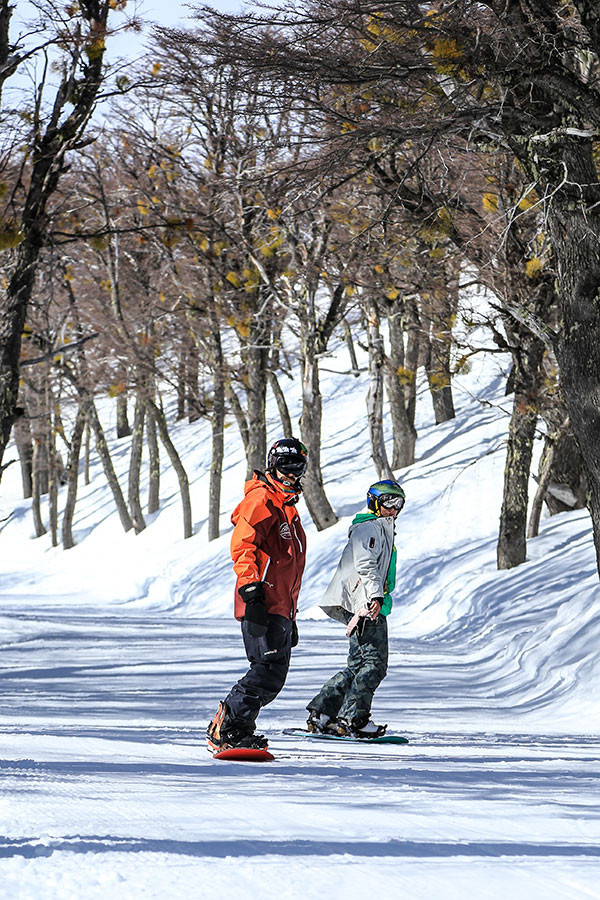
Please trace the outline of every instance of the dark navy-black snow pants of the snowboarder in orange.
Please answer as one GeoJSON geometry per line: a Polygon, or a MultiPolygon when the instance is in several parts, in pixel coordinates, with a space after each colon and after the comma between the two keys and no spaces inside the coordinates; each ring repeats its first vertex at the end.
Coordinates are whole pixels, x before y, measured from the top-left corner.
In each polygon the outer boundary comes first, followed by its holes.
{"type": "Polygon", "coordinates": [[[260,638],[248,634],[248,623],[242,620],[242,637],[250,668],[225,698],[234,721],[248,731],[254,731],[262,707],[279,694],[290,667],[293,622],[285,616],[269,615],[267,618],[267,634],[260,638]]]}

